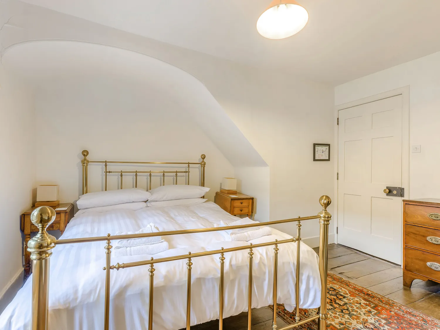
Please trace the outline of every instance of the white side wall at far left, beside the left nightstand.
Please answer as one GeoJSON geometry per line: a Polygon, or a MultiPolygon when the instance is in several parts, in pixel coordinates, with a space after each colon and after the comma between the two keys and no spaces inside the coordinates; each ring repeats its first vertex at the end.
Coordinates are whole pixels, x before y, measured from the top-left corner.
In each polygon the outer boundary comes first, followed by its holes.
{"type": "Polygon", "coordinates": [[[20,214],[30,208],[35,184],[34,120],[33,93],[0,65],[0,310],[9,286],[22,279],[20,214]]]}

